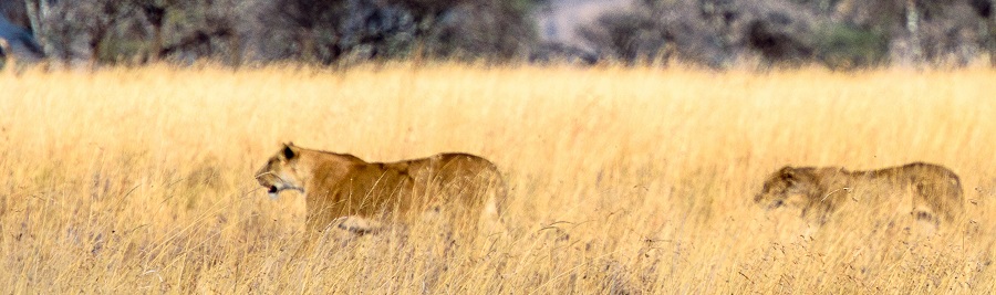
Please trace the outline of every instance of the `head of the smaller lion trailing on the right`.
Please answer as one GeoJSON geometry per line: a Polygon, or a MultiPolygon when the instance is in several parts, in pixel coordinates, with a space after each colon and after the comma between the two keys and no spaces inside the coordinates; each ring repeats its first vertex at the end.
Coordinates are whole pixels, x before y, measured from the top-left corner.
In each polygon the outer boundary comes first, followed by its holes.
{"type": "Polygon", "coordinates": [[[768,210],[786,204],[806,208],[810,196],[817,193],[817,190],[811,169],[785,167],[768,176],[761,192],[754,197],[754,202],[768,210]]]}

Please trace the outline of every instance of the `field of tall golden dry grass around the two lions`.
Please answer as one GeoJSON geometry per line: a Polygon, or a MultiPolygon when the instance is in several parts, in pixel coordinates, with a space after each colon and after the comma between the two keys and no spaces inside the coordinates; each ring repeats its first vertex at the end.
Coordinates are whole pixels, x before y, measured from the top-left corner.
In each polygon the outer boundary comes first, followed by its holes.
{"type": "MultiPolygon", "coordinates": [[[[996,72],[387,64],[0,76],[0,289],[53,293],[992,294],[996,72]],[[281,143],[492,160],[505,231],[299,252],[281,143]],[[786,165],[958,173],[955,223],[821,228],[754,203],[786,165]]],[[[859,200],[855,200],[855,202],[859,200]]],[[[872,204],[869,204],[872,206],[872,204]]]]}

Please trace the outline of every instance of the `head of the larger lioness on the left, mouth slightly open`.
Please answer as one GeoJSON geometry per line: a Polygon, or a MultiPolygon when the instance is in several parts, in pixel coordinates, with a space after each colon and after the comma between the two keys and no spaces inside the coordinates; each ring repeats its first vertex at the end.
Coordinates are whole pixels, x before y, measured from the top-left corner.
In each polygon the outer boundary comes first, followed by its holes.
{"type": "Polygon", "coordinates": [[[293,143],[286,144],[262,168],[259,168],[259,171],[256,171],[256,180],[267,188],[270,198],[276,199],[283,190],[304,191],[304,181],[298,173],[300,156],[301,148],[295,147],[293,143]]]}

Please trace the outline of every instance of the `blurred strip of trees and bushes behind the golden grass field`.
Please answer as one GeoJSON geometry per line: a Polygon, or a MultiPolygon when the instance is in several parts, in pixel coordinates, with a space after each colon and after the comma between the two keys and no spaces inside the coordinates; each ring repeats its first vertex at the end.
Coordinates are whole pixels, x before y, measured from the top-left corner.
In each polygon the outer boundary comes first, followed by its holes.
{"type": "MultiPolygon", "coordinates": [[[[996,0],[4,0],[21,60],[996,66],[996,0]]],[[[3,52],[7,54],[8,52],[3,52]]]]}

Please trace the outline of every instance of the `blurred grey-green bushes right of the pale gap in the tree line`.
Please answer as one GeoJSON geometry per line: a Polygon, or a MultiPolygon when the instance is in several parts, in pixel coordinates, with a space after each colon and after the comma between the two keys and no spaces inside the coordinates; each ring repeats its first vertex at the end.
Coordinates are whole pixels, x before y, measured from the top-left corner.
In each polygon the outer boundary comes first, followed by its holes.
{"type": "MultiPolygon", "coordinates": [[[[819,62],[834,69],[889,62],[965,65],[996,52],[996,0],[643,0],[582,29],[598,52],[658,55],[723,67],[819,62]],[[985,23],[985,24],[984,24],[985,23]]],[[[996,55],[996,54],[993,54],[996,55]]],[[[996,61],[994,61],[996,63],[996,61]]]]}

